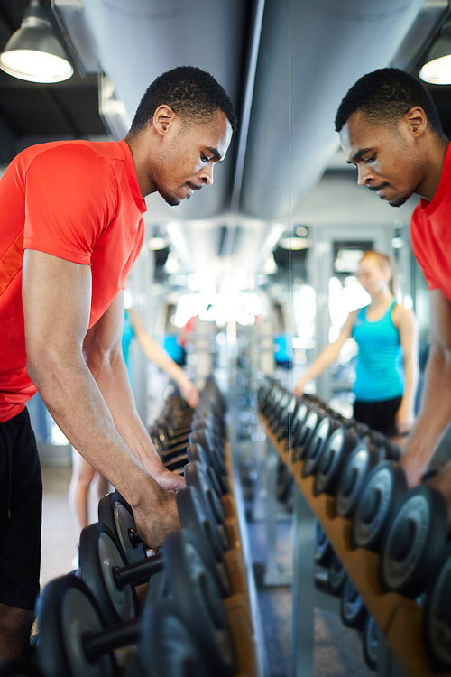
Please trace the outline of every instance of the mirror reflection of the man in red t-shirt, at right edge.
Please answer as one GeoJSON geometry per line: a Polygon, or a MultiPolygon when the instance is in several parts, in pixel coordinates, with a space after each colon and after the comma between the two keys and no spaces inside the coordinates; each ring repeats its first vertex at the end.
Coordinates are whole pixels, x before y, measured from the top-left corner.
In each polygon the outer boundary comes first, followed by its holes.
{"type": "MultiPolygon", "coordinates": [[[[428,91],[398,69],[357,80],[338,108],[336,131],[360,185],[392,207],[421,197],[410,232],[428,282],[431,322],[421,404],[401,459],[413,487],[451,422],[451,150],[428,91]]],[[[431,484],[446,495],[451,524],[451,463],[431,484]]]]}

